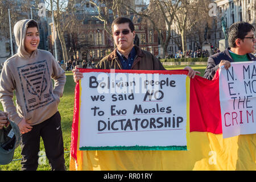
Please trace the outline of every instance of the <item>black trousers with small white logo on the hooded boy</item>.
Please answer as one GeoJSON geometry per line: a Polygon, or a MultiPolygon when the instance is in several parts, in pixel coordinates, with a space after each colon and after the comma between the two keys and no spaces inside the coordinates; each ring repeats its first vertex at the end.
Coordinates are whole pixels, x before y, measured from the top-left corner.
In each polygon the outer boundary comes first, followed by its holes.
{"type": "Polygon", "coordinates": [[[65,170],[60,120],[60,113],[57,111],[51,118],[32,126],[31,131],[22,135],[22,171],[35,171],[38,168],[40,137],[43,139],[46,156],[52,170],[65,170]]]}

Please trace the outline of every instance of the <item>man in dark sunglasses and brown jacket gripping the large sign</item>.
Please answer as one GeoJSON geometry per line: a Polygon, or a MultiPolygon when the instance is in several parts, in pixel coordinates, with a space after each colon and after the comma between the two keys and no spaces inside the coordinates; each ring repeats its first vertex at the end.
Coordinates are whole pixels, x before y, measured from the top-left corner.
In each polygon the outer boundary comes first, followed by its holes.
{"type": "MultiPolygon", "coordinates": [[[[117,48],[104,57],[96,65],[97,69],[137,69],[137,70],[165,70],[162,63],[148,51],[144,51],[133,44],[135,38],[134,24],[129,18],[119,17],[112,23],[114,43],[117,48]]],[[[185,67],[189,77],[195,77],[197,71],[185,67]]],[[[73,78],[77,82],[82,78],[79,69],[73,69],[73,78]]]]}

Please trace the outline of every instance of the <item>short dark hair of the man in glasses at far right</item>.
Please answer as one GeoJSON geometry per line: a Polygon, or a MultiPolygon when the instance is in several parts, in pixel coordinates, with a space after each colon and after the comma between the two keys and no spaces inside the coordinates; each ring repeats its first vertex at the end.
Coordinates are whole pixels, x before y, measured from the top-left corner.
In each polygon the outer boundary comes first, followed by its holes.
{"type": "Polygon", "coordinates": [[[229,28],[229,47],[236,47],[236,39],[245,38],[251,30],[255,31],[255,28],[250,23],[233,23],[229,28]]]}

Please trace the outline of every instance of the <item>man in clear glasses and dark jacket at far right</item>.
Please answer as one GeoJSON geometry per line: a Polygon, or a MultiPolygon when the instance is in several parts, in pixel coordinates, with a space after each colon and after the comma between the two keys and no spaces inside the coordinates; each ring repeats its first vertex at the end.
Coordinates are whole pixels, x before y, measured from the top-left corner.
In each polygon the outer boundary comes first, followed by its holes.
{"type": "Polygon", "coordinates": [[[218,68],[224,66],[228,69],[232,62],[256,61],[251,54],[256,43],[254,31],[255,28],[250,23],[233,23],[229,28],[229,47],[209,57],[204,77],[212,80],[218,68]]]}

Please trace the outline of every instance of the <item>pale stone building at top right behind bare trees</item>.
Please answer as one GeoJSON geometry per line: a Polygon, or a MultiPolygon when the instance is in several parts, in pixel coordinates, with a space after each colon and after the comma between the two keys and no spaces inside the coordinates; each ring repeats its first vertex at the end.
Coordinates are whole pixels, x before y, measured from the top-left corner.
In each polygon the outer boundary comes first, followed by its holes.
{"type": "MultiPolygon", "coordinates": [[[[217,5],[217,16],[212,17],[211,28],[209,28],[207,33],[207,40],[201,45],[199,43],[199,33],[196,31],[188,31],[186,35],[186,49],[196,51],[197,49],[202,49],[204,44],[209,44],[213,49],[219,48],[219,41],[225,39],[224,32],[222,31],[221,18],[223,17],[226,22],[226,31],[228,32],[229,27],[235,22],[248,22],[253,24],[255,27],[256,19],[256,1],[255,0],[215,0],[213,1],[217,5]]],[[[172,26],[172,38],[168,46],[168,53],[176,53],[182,50],[181,48],[181,38],[179,31],[175,26],[172,26]]]]}

